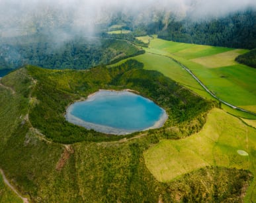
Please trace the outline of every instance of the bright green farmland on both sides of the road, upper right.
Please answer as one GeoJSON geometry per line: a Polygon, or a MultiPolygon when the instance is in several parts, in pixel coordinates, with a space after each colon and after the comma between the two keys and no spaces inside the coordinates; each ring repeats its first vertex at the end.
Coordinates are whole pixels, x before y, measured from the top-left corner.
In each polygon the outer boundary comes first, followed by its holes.
{"type": "MultiPolygon", "coordinates": [[[[141,39],[148,38],[147,36],[141,39]]],[[[235,57],[247,50],[169,42],[157,38],[151,38],[149,48],[144,49],[146,54],[136,56],[134,59],[144,63],[145,69],[157,70],[198,95],[213,99],[181,65],[171,60],[174,58],[191,69],[192,73],[220,99],[256,112],[256,71],[235,62],[235,57]]],[[[222,106],[237,116],[256,118],[256,116],[238,112],[224,104],[222,106]]]]}

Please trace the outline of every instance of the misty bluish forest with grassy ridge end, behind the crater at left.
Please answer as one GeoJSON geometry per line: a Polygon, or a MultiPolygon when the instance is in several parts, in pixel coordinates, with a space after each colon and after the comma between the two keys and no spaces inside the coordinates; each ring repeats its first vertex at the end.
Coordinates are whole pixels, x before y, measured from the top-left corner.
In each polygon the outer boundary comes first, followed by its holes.
{"type": "Polygon", "coordinates": [[[42,38],[28,43],[0,44],[0,69],[15,69],[25,64],[49,69],[87,69],[136,54],[142,54],[140,49],[126,40],[75,38],[58,43],[42,38]]]}

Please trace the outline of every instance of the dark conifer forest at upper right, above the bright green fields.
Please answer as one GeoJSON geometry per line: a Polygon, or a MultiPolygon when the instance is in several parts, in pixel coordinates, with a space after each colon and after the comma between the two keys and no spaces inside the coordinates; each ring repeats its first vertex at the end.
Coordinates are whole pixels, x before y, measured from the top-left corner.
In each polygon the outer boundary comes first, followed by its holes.
{"type": "Polygon", "coordinates": [[[256,11],[198,22],[186,18],[169,22],[168,27],[158,33],[158,37],[175,42],[253,49],[256,47],[255,24],[256,11]]]}

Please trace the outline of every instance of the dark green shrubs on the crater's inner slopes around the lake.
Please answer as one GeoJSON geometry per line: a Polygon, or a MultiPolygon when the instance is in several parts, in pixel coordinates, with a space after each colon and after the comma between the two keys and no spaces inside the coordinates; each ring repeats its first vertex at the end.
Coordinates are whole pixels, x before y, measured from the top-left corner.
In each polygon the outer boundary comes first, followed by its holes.
{"type": "Polygon", "coordinates": [[[54,142],[120,140],[124,136],[107,136],[70,124],[64,118],[65,108],[99,89],[134,89],[165,108],[169,119],[162,130],[179,126],[179,132],[167,130],[166,134],[179,137],[200,130],[205,112],[216,104],[204,101],[161,73],[142,67],[142,63],[131,60],[118,67],[95,67],[90,71],[50,71],[27,66],[28,73],[37,81],[30,122],[54,142]]]}

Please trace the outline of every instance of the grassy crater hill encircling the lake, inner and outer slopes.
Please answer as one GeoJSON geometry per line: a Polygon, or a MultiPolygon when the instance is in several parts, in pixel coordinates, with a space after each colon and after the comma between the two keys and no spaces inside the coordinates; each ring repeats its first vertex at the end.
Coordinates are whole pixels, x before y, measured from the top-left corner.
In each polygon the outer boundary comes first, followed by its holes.
{"type": "Polygon", "coordinates": [[[1,79],[0,96],[0,167],[22,195],[33,202],[175,202],[177,194],[180,200],[241,200],[241,194],[250,183],[248,171],[216,167],[187,174],[171,183],[159,183],[151,175],[143,152],[163,138],[179,138],[200,130],[204,115],[214,104],[196,97],[155,71],[144,71],[136,61],[113,69],[103,67],[89,71],[52,71],[28,66],[1,79]],[[153,77],[152,81],[148,80],[149,76],[153,77]],[[100,86],[103,79],[105,85],[111,81],[104,86],[108,88],[137,87],[136,90],[158,101],[161,106],[169,104],[168,98],[171,98],[176,102],[170,107],[176,112],[170,112],[184,120],[177,120],[170,114],[165,126],[168,128],[143,132],[132,139],[120,140],[120,137],[112,142],[97,139],[116,138],[93,131],[88,133],[82,128],[69,126],[65,121],[56,128],[54,122],[64,118],[65,106],[103,87],[100,86]],[[128,82],[130,86],[126,86],[128,82]],[[158,83],[164,85],[155,86],[158,83]],[[168,97],[161,96],[165,95],[164,87],[172,90],[168,97]],[[173,92],[175,89],[177,91],[173,92]],[[174,97],[173,93],[177,95],[174,97]],[[174,108],[176,104],[177,108],[174,108]],[[38,111],[40,108],[42,112],[38,111]],[[187,112],[187,117],[182,116],[179,109],[187,112]],[[44,122],[36,115],[42,116],[44,122]],[[42,126],[46,122],[50,123],[42,126]],[[67,126],[72,129],[71,135],[65,132],[67,126]],[[85,136],[87,142],[64,145],[49,139],[48,132],[52,131],[64,140],[80,138],[75,130],[82,132],[81,136],[85,136]],[[89,142],[93,140],[97,142],[89,142]],[[195,188],[197,193],[194,193],[193,185],[198,185],[205,173],[209,178],[204,179],[204,183],[214,190],[195,188]],[[226,182],[235,186],[235,190],[224,184],[226,182]],[[180,188],[186,190],[181,192],[180,188]]]}

